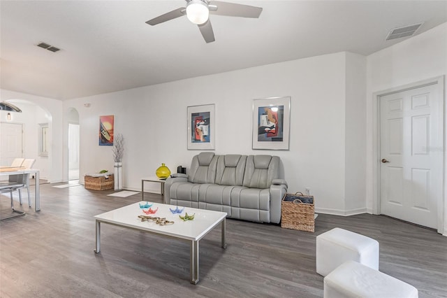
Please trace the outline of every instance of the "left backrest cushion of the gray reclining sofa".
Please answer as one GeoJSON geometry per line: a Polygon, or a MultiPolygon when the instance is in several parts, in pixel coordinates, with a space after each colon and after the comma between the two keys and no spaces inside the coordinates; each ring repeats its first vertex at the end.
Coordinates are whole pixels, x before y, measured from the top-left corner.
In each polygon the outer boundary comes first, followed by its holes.
{"type": "Polygon", "coordinates": [[[214,183],[217,156],[213,152],[200,152],[193,157],[188,181],[191,183],[214,183]]]}

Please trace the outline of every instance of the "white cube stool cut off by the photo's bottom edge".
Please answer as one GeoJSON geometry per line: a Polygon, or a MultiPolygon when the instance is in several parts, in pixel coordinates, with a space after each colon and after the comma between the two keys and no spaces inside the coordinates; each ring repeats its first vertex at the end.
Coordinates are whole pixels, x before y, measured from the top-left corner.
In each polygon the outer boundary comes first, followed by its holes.
{"type": "Polygon", "coordinates": [[[344,262],[323,280],[323,297],[417,298],[413,285],[354,261],[344,262]]]}

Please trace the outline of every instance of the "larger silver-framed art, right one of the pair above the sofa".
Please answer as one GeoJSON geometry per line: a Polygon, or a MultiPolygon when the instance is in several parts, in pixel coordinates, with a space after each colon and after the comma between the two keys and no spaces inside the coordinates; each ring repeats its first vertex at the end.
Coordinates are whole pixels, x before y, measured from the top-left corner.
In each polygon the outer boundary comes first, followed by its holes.
{"type": "Polygon", "coordinates": [[[253,149],[288,150],[291,97],[253,101],[253,149]]]}

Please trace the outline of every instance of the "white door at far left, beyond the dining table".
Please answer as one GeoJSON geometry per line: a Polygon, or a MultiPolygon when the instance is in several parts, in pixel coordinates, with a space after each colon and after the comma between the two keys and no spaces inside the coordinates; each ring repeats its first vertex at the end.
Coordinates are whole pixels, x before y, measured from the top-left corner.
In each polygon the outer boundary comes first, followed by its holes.
{"type": "Polygon", "coordinates": [[[0,122],[0,165],[9,166],[17,157],[22,157],[22,124],[0,122]]]}

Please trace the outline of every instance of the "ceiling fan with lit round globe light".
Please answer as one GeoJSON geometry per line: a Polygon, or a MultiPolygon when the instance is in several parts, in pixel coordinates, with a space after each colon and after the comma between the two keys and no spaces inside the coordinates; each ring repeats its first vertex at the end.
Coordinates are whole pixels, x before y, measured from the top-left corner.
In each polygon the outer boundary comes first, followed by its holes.
{"type": "Polygon", "coordinates": [[[146,24],[156,25],[168,20],[173,20],[182,15],[186,15],[188,20],[198,25],[200,33],[207,43],[214,41],[214,32],[212,31],[209,15],[228,15],[230,17],[259,17],[263,8],[249,6],[244,4],[229,3],[223,1],[207,0],[185,0],[186,7],[180,7],[175,10],[154,17],[148,20],[146,24]]]}

